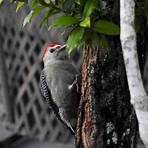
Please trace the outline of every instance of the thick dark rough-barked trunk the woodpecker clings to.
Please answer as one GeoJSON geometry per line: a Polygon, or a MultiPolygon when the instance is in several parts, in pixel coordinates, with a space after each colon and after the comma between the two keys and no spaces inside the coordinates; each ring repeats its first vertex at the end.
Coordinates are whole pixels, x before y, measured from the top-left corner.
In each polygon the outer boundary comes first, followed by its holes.
{"type": "Polygon", "coordinates": [[[118,43],[108,52],[84,50],[77,148],[136,147],[137,120],[118,43]]]}

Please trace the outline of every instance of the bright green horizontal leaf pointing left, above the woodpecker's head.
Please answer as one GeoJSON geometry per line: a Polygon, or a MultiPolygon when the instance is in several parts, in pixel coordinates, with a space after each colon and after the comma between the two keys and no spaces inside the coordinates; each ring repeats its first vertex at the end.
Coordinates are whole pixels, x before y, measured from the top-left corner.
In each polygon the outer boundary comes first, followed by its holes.
{"type": "Polygon", "coordinates": [[[79,20],[75,17],[61,16],[57,20],[55,20],[49,28],[51,28],[51,27],[67,27],[67,26],[77,24],[78,22],[79,22],[79,20]]]}

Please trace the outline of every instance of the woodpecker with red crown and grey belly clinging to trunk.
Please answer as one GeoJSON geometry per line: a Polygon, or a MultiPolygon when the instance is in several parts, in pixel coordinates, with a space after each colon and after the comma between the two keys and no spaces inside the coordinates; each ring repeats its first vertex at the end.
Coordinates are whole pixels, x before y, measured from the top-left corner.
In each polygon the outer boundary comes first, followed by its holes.
{"type": "Polygon", "coordinates": [[[69,60],[65,48],[59,44],[47,44],[43,48],[40,90],[57,118],[74,134],[80,97],[79,72],[69,60]]]}

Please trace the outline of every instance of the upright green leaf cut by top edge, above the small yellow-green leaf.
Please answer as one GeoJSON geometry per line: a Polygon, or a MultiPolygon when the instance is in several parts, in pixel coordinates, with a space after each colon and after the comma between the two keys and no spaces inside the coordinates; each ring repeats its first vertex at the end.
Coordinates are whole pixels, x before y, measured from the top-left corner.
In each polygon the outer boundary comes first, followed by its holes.
{"type": "Polygon", "coordinates": [[[94,9],[97,6],[97,0],[87,0],[85,6],[84,6],[84,11],[83,11],[83,16],[88,17],[92,14],[94,9]]]}

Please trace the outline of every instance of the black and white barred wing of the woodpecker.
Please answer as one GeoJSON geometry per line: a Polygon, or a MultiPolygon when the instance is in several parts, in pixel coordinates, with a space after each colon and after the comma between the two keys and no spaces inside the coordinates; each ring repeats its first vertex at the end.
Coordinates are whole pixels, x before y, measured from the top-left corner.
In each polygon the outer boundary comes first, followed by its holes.
{"type": "Polygon", "coordinates": [[[66,125],[66,127],[74,134],[74,131],[70,128],[70,126],[64,120],[62,120],[62,117],[59,113],[59,108],[54,103],[48,85],[46,83],[46,76],[44,71],[42,71],[40,74],[40,91],[44,98],[44,101],[47,102],[49,108],[53,110],[58,120],[60,120],[64,125],[66,125]]]}

